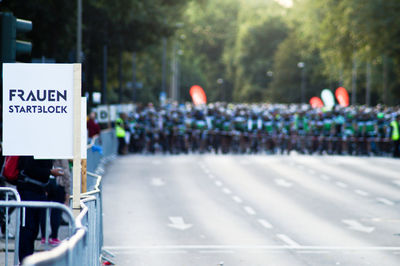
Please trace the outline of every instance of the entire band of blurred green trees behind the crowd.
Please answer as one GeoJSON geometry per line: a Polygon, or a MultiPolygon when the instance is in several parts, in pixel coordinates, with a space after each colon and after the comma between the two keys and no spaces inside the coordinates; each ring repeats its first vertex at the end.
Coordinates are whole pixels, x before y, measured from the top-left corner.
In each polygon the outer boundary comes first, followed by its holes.
{"type": "MultiPolygon", "coordinates": [[[[292,8],[274,0],[82,3],[84,90],[100,91],[107,45],[110,103],[118,101],[120,86],[123,101],[132,100],[133,52],[143,84],[139,101],[158,100],[162,38],[168,40],[167,88],[173,47],[179,47],[181,101],[190,100],[188,90],[198,84],[210,101],[298,102],[298,62],[306,66],[308,100],[325,87],[351,90],[356,62],[357,102],[364,102],[368,63],[373,103],[400,102],[399,0],[295,0],[292,8]]],[[[3,0],[1,7],[33,22],[33,58],[75,60],[76,1],[3,0]]]]}

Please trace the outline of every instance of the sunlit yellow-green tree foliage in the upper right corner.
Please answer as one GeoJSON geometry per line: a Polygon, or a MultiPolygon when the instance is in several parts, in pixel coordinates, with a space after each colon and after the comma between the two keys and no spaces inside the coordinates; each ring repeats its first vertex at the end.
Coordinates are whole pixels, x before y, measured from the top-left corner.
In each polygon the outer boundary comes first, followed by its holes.
{"type": "MultiPolygon", "coordinates": [[[[375,62],[372,65],[373,93],[382,94],[383,87],[399,88],[400,78],[393,75],[400,67],[399,1],[299,0],[296,10],[302,25],[299,32],[303,40],[319,50],[327,79],[337,81],[343,75],[344,85],[351,87],[353,57],[356,56],[358,87],[365,88],[365,65],[375,62]],[[382,56],[393,60],[394,69],[379,75],[376,73],[382,69],[382,56]],[[390,77],[386,85],[383,75],[390,77]]],[[[398,97],[399,93],[392,91],[392,95],[398,97]]],[[[387,101],[396,102],[398,100],[387,101]]]]}

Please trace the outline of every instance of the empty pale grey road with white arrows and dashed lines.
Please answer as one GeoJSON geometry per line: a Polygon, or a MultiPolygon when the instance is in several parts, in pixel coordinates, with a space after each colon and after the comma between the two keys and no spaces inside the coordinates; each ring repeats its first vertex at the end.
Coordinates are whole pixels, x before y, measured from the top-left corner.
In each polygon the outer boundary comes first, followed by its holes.
{"type": "Polygon", "coordinates": [[[400,265],[400,160],[128,155],[103,182],[117,265],[400,265]]]}

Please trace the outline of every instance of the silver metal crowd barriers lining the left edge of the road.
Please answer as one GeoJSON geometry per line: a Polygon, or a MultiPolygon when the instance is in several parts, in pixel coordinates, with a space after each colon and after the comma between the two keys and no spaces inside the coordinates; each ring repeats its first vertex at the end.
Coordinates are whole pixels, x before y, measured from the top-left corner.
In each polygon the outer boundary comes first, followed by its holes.
{"type": "MultiPolygon", "coordinates": [[[[18,192],[9,187],[0,187],[0,193],[13,193],[16,201],[0,201],[0,208],[16,208],[16,235],[14,265],[18,264],[18,244],[20,227],[20,210],[24,208],[58,208],[61,209],[70,219],[69,237],[60,245],[51,250],[37,252],[28,256],[22,262],[24,266],[98,266],[101,260],[107,259],[102,254],[113,256],[111,253],[102,250],[103,247],[103,215],[102,215],[102,182],[101,175],[104,172],[104,164],[115,157],[117,139],[113,130],[102,131],[99,138],[95,138],[88,145],[87,150],[87,191],[81,195],[81,212],[74,219],[71,209],[56,202],[30,202],[20,201],[18,192]],[[93,148],[95,146],[95,148],[93,148]],[[95,173],[93,173],[95,172],[95,173]]],[[[47,215],[49,212],[46,212],[47,215]]],[[[24,216],[22,216],[24,217],[24,216]]],[[[24,220],[22,221],[24,222],[24,220]]],[[[7,223],[6,223],[6,226],[7,223]]],[[[6,227],[7,228],[7,227],[6,227]]],[[[46,235],[47,237],[47,235],[46,235]]],[[[8,257],[8,228],[6,232],[6,264],[8,257]]]]}

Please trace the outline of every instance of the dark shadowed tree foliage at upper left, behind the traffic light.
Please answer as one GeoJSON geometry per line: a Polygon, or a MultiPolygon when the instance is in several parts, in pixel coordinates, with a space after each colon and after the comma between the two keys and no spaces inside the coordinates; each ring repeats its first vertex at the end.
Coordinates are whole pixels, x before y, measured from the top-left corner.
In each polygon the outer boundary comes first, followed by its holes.
{"type": "MultiPolygon", "coordinates": [[[[76,13],[77,1],[57,0],[4,0],[2,11],[11,11],[17,17],[31,20],[33,31],[29,34],[33,43],[33,58],[54,58],[57,62],[74,62],[76,55],[76,13]]],[[[186,6],[185,0],[82,0],[83,13],[83,90],[92,92],[100,90],[102,79],[103,46],[108,47],[108,99],[115,102],[115,88],[122,84],[123,101],[132,99],[126,82],[119,81],[118,65],[124,64],[119,58],[129,58],[126,52],[141,52],[140,59],[146,64],[139,64],[139,77],[146,88],[146,93],[140,93],[144,100],[154,99],[152,91],[160,78],[155,81],[154,73],[159,71],[160,63],[154,58],[159,48],[162,36],[169,37],[176,30],[175,23],[180,19],[186,6]],[[124,54],[124,56],[120,56],[124,54]],[[156,62],[157,61],[157,62],[156,62]],[[157,69],[158,67],[158,69],[157,69]],[[146,72],[142,77],[140,71],[146,72]],[[152,78],[153,77],[153,78],[152,78]],[[151,96],[149,96],[151,95],[151,96]]],[[[129,60],[129,59],[128,59],[129,60]]],[[[126,59],[123,59],[126,61],[126,59]]],[[[124,64],[126,65],[126,64],[124,64]]],[[[129,65],[129,64],[128,64],[129,65]]],[[[124,74],[130,67],[123,69],[124,74]]],[[[125,78],[125,76],[123,76],[125,78]]],[[[89,102],[90,103],[90,102],[89,102]]]]}

